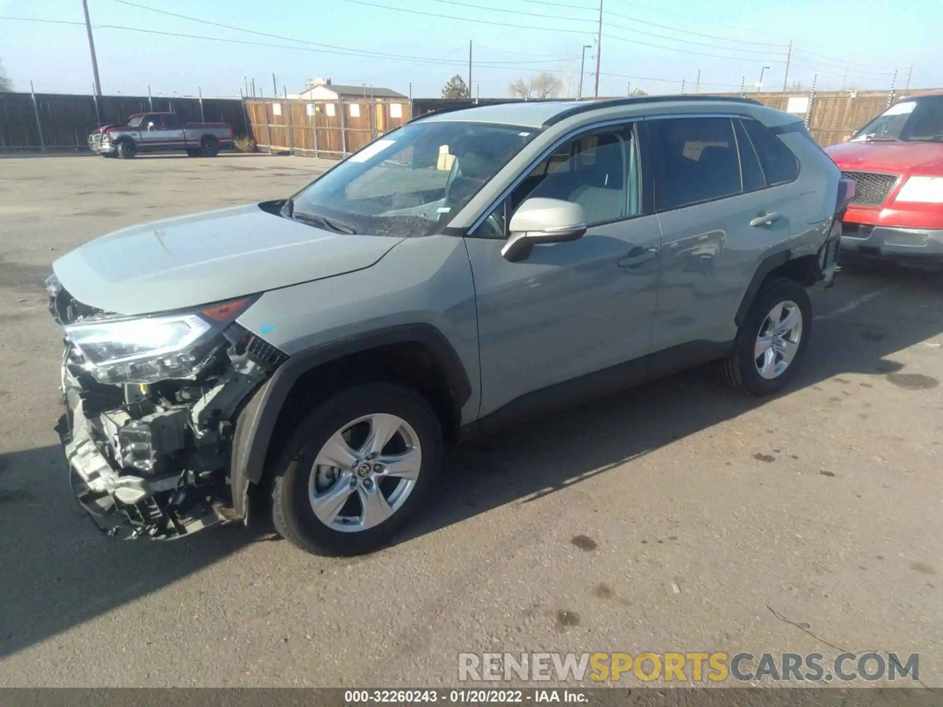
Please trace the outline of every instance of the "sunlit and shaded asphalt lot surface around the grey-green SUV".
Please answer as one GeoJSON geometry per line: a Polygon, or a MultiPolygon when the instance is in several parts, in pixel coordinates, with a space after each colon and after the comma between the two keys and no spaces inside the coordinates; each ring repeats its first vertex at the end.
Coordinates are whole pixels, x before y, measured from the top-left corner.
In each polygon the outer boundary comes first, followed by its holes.
{"type": "Polygon", "coordinates": [[[54,259],[326,162],[0,160],[0,685],[445,685],[459,651],[919,653],[943,687],[943,274],[840,273],[786,395],[703,371],[462,448],[372,556],[264,528],[121,543],[53,425],[54,259]]]}

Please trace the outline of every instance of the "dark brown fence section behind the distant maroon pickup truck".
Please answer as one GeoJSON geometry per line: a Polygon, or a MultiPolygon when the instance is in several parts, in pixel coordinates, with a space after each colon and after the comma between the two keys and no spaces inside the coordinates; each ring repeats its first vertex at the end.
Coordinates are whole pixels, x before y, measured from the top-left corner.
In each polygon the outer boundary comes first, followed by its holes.
{"type": "Polygon", "coordinates": [[[148,111],[175,112],[184,123],[229,123],[236,137],[248,135],[239,98],[0,93],[0,150],[88,150],[99,125],[148,111]]]}

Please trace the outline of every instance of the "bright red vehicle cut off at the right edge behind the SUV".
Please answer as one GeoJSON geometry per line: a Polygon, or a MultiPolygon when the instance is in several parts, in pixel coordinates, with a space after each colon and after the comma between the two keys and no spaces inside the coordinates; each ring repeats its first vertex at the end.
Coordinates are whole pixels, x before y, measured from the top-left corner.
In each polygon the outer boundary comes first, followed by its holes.
{"type": "Polygon", "coordinates": [[[856,185],[843,252],[943,262],[943,90],[902,99],[825,152],[856,185]]]}

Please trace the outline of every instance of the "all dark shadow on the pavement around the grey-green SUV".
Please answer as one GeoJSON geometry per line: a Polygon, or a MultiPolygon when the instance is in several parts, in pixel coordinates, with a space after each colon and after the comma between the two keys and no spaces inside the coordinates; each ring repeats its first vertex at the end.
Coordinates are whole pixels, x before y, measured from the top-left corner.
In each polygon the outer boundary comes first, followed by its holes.
{"type": "MultiPolygon", "coordinates": [[[[816,322],[786,395],[842,374],[893,375],[902,369],[893,354],[943,331],[943,275],[879,268],[843,281],[852,298],[854,291],[885,294],[859,298],[847,317],[816,322]]],[[[438,498],[396,544],[610,472],[765,403],[695,370],[461,447],[447,456],[438,498]]],[[[2,454],[0,658],[204,570],[270,532],[257,523],[167,543],[109,540],[72,497],[58,446],[2,454]]]]}

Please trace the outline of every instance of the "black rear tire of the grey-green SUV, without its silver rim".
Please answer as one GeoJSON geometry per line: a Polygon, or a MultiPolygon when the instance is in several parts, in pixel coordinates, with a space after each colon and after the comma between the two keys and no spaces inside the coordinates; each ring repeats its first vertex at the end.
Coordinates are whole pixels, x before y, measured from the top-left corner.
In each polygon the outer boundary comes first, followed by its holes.
{"type": "Polygon", "coordinates": [[[808,292],[795,280],[780,278],[772,280],[757,293],[753,306],[736,334],[736,343],[732,354],[721,362],[724,379],[736,390],[762,397],[780,392],[792,381],[802,366],[805,350],[812,335],[812,303],[808,292]],[[775,378],[764,378],[756,368],[753,357],[756,338],[764,325],[769,312],[779,303],[794,302],[802,312],[802,337],[786,370],[775,378]]]}

